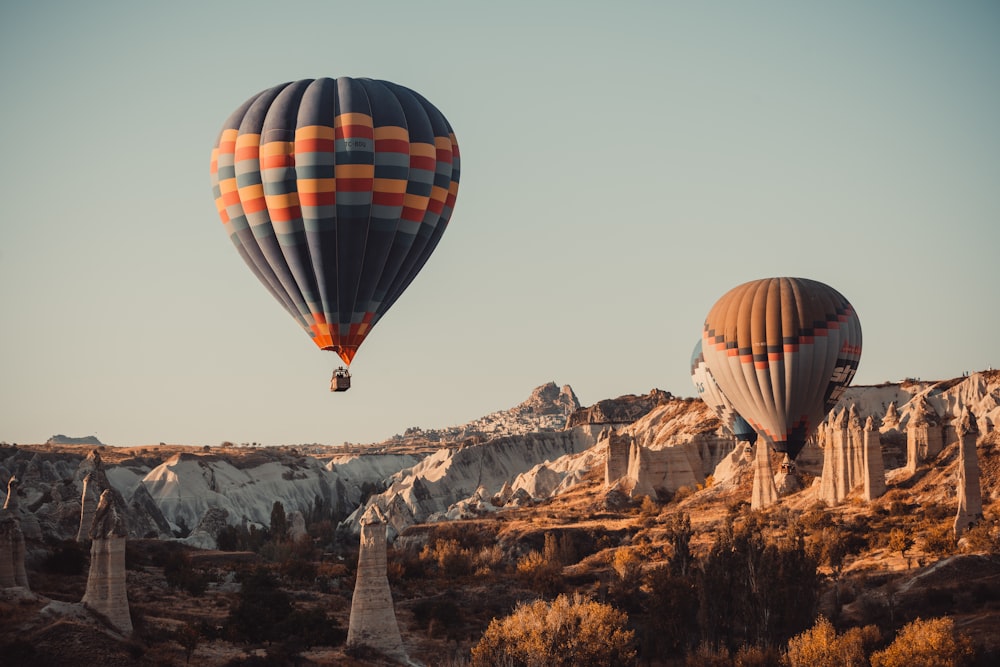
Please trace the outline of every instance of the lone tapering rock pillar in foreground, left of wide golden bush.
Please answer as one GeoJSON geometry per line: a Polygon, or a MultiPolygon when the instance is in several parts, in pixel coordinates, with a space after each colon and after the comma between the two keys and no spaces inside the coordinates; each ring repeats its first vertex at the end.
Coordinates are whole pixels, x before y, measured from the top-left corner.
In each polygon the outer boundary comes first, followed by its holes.
{"type": "Polygon", "coordinates": [[[370,646],[407,662],[386,574],[385,544],[386,524],[378,507],[372,505],[361,518],[361,552],[351,598],[347,646],[370,646]]]}

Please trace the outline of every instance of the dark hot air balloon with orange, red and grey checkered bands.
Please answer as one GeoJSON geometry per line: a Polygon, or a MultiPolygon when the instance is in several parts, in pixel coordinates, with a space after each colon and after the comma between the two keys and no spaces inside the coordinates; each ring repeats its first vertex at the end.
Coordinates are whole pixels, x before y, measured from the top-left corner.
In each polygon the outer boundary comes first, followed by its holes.
{"type": "MultiPolygon", "coordinates": [[[[244,102],[222,126],[211,176],[247,266],[317,347],[350,366],[441,239],[459,164],[451,126],[418,93],[341,77],[244,102]]],[[[348,387],[341,367],[330,389],[348,387]]]]}

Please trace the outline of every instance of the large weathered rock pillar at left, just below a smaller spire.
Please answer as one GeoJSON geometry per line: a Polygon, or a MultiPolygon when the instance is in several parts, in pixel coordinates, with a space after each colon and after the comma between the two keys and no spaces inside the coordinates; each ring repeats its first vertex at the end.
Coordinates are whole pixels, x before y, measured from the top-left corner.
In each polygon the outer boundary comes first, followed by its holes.
{"type": "Polygon", "coordinates": [[[104,616],[118,631],[132,633],[125,589],[125,501],[114,489],[101,494],[90,528],[90,573],[84,606],[104,616]]]}

